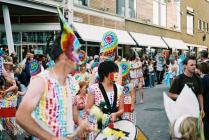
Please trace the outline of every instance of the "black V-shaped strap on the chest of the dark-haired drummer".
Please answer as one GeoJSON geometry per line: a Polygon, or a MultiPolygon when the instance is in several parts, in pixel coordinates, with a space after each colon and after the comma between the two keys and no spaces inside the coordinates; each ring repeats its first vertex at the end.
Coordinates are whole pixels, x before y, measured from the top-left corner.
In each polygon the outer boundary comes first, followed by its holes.
{"type": "Polygon", "coordinates": [[[104,89],[104,86],[101,83],[99,83],[99,89],[102,92],[102,95],[103,95],[105,103],[107,105],[109,114],[117,111],[117,109],[116,109],[116,105],[117,105],[117,87],[116,87],[115,84],[113,84],[113,87],[114,87],[114,101],[113,101],[113,106],[111,107],[109,99],[107,97],[107,93],[104,89]]]}

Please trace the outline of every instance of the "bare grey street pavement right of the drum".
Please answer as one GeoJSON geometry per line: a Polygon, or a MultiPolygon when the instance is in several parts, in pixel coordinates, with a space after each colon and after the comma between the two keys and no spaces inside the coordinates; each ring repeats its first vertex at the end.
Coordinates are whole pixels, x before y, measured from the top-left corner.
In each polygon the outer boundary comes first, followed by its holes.
{"type": "Polygon", "coordinates": [[[169,140],[168,119],[163,105],[163,91],[168,92],[164,84],[144,89],[145,102],[139,103],[137,94],[136,121],[137,126],[149,140],[169,140]]]}

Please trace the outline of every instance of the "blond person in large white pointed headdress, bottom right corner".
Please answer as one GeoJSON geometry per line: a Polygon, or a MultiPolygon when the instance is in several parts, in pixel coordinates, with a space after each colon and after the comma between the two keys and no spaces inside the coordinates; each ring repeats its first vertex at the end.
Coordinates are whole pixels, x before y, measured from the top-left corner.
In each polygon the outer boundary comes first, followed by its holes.
{"type": "Polygon", "coordinates": [[[191,88],[185,85],[176,101],[164,93],[164,106],[172,140],[204,140],[200,107],[191,88]]]}

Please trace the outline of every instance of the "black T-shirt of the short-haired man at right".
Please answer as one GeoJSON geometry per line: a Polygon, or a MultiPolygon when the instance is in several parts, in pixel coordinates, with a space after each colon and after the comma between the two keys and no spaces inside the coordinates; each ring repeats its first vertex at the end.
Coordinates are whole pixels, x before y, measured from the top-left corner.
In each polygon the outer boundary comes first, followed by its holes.
{"type": "Polygon", "coordinates": [[[187,84],[192,89],[196,96],[203,93],[200,78],[196,75],[188,77],[185,74],[180,74],[173,80],[169,92],[179,95],[185,84],[187,84]]]}

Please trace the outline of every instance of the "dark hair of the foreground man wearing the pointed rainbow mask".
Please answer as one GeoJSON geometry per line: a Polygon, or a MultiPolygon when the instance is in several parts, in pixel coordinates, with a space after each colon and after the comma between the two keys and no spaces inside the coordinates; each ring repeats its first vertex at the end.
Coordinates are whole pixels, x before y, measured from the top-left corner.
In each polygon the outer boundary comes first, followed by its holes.
{"type": "Polygon", "coordinates": [[[56,61],[60,54],[62,54],[62,48],[61,48],[61,33],[58,34],[55,41],[53,42],[53,45],[51,48],[48,47],[49,56],[52,60],[56,61]]]}

